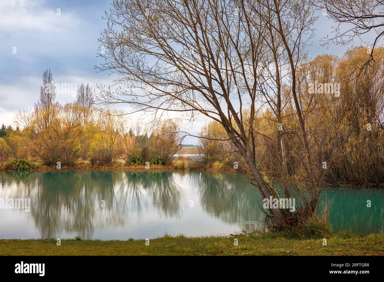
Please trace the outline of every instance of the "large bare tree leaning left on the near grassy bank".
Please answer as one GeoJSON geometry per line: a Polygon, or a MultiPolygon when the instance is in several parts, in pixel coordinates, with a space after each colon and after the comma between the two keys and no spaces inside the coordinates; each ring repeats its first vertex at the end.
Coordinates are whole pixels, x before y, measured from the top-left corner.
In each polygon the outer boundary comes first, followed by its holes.
{"type": "MultiPolygon", "coordinates": [[[[272,2],[268,9],[279,3],[272,2]]],[[[255,5],[270,4],[262,0],[114,1],[104,16],[107,27],[99,38],[103,45],[99,55],[105,61],[98,68],[116,73],[118,87],[99,87],[98,102],[128,104],[132,112],[146,111],[154,117],[179,112],[188,119],[200,114],[217,121],[244,158],[262,197],[279,198],[255,154],[260,89],[270,76],[270,65],[263,58],[271,51],[264,36],[271,31],[254,12],[255,5]]],[[[287,209],[269,209],[275,227],[282,226],[288,214],[287,209]]]]}

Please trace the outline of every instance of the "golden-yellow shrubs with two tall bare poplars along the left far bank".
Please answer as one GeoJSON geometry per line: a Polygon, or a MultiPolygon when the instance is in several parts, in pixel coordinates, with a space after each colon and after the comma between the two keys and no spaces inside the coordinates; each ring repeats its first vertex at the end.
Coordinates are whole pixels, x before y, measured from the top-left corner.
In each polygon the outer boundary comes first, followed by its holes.
{"type": "Polygon", "coordinates": [[[181,147],[173,120],[152,129],[138,122],[129,127],[122,112],[94,108],[88,85],[81,85],[76,101],[65,105],[55,102],[55,92],[53,76],[47,70],[34,109],[18,112],[15,130],[3,125],[0,155],[10,160],[3,169],[13,170],[10,164],[19,158],[39,163],[40,168],[86,167],[86,163],[114,167],[118,160],[136,168],[146,162],[172,165],[181,147]]]}

